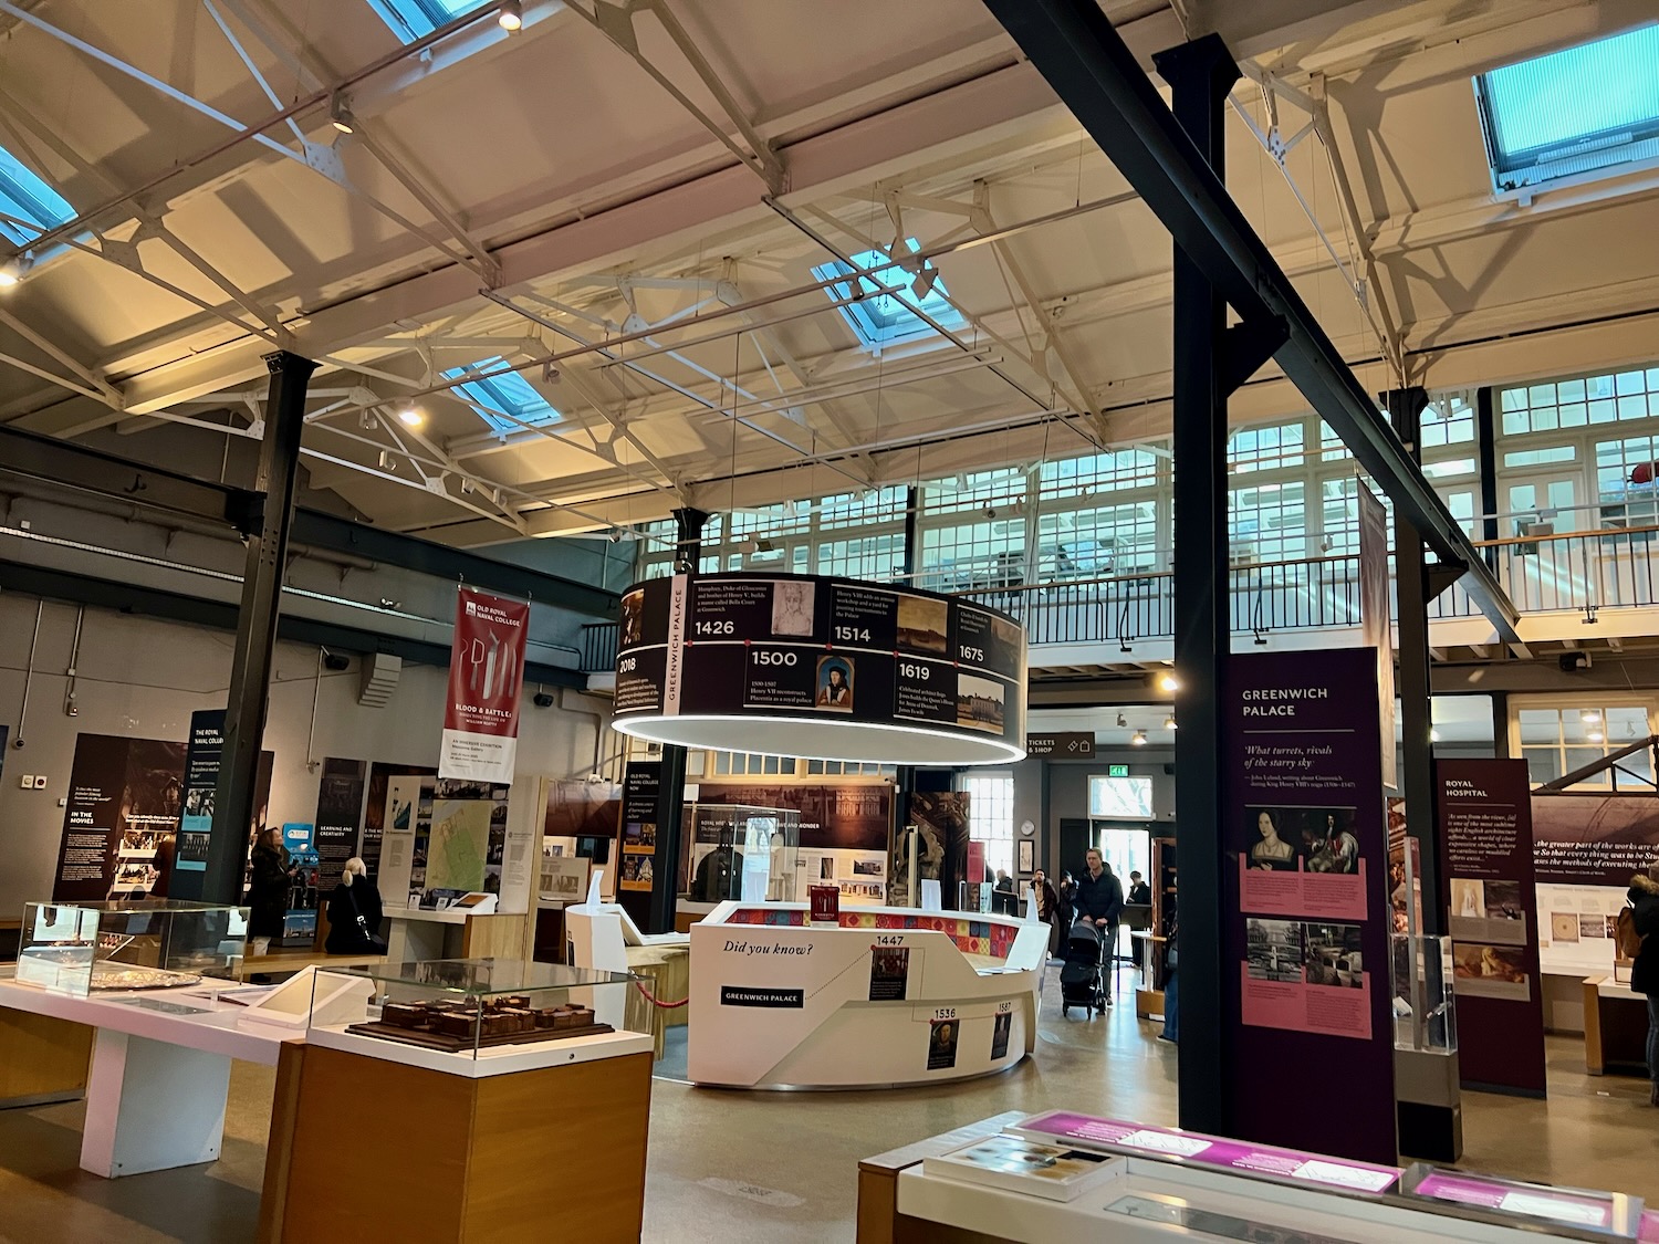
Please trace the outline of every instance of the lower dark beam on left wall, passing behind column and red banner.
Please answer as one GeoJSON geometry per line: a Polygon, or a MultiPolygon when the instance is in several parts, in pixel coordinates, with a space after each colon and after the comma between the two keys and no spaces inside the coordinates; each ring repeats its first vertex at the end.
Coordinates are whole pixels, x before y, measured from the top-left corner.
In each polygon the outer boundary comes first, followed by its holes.
{"type": "MultiPolygon", "coordinates": [[[[71,605],[90,609],[109,609],[116,614],[134,614],[138,617],[156,617],[164,622],[182,622],[211,630],[236,630],[236,605],[222,600],[207,600],[179,592],[164,592],[158,587],[141,584],[95,579],[85,574],[65,574],[32,562],[13,562],[0,557],[0,592],[20,592],[38,595],[46,600],[63,600],[71,605]]],[[[277,639],[289,644],[328,649],[330,652],[387,652],[401,657],[408,665],[433,665],[446,668],[450,663],[448,644],[428,644],[401,635],[383,635],[360,627],[345,627],[337,622],[319,622],[295,614],[282,614],[277,620],[277,639]]],[[[587,675],[566,665],[544,665],[526,662],[524,682],[539,682],[549,687],[587,688],[587,675]]]]}

